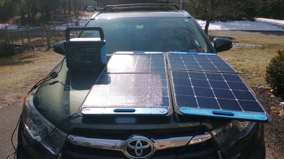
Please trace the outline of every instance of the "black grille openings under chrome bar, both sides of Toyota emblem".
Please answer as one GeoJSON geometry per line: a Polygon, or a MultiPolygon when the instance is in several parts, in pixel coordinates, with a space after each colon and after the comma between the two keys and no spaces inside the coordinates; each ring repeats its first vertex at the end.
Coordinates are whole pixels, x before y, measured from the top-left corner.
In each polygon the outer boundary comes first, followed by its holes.
{"type": "MultiPolygon", "coordinates": [[[[212,144],[212,139],[207,140],[205,142],[201,142],[198,144],[188,145],[183,152],[179,155],[179,159],[188,158],[188,159],[215,159],[215,149],[212,144]]],[[[169,148],[169,149],[161,149],[155,151],[151,159],[171,159],[174,158],[179,152],[183,149],[183,147],[169,148]]],[[[127,158],[122,151],[116,150],[108,150],[108,149],[98,149],[91,147],[84,147],[72,144],[70,142],[66,142],[65,148],[63,150],[63,158],[70,159],[87,159],[87,158],[127,158]]]]}

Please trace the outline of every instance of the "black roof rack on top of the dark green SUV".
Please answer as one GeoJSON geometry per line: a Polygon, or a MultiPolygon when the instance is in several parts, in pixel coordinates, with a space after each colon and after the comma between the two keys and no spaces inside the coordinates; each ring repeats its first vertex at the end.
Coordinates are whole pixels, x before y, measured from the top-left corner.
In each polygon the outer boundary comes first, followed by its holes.
{"type": "Polygon", "coordinates": [[[121,4],[121,5],[109,5],[103,8],[103,12],[105,12],[108,8],[112,8],[110,12],[113,12],[117,9],[132,9],[132,8],[164,8],[168,10],[173,10],[172,7],[175,7],[176,10],[180,10],[179,6],[176,4],[156,4],[156,3],[142,3],[142,4],[121,4]]]}

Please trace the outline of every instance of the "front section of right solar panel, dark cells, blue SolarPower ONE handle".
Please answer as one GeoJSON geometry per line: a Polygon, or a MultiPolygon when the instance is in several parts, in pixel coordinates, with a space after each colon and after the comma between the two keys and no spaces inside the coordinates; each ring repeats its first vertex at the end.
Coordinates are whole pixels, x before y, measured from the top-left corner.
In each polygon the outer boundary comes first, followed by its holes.
{"type": "Polygon", "coordinates": [[[171,76],[180,115],[272,121],[238,74],[172,70],[171,76]]]}

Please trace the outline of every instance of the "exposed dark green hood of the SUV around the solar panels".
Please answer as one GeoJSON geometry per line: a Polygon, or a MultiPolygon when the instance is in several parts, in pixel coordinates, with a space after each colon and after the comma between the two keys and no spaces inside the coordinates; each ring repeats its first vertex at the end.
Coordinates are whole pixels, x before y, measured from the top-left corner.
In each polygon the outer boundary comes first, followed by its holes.
{"type": "MultiPolygon", "coordinates": [[[[71,70],[66,67],[65,61],[62,62],[51,71],[58,72],[61,69],[58,77],[44,81],[34,91],[33,104],[46,119],[63,131],[68,132],[73,128],[131,130],[181,128],[200,124],[202,118],[187,117],[186,119],[178,119],[174,114],[168,117],[147,118],[141,116],[76,116],[78,108],[101,74],[101,70],[71,70]],[[74,115],[74,117],[61,123],[71,115],[74,115]]],[[[202,125],[211,129],[222,123],[224,124],[224,122],[228,121],[224,119],[203,119],[202,125]]]]}

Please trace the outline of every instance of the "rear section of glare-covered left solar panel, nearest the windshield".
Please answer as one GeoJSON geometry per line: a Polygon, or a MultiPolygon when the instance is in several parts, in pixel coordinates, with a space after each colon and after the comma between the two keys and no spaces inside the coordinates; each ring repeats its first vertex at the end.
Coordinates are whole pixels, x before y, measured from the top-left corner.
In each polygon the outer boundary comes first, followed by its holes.
{"type": "Polygon", "coordinates": [[[103,73],[147,73],[167,72],[163,54],[112,55],[103,73]]]}

